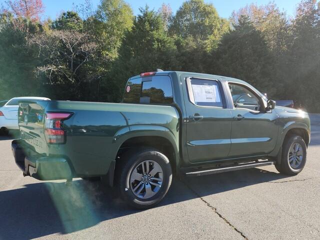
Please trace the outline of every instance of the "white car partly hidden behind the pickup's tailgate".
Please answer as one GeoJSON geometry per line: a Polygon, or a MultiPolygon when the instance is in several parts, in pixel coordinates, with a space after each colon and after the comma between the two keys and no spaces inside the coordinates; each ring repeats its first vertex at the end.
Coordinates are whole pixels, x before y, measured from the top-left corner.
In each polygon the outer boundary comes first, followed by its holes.
{"type": "Polygon", "coordinates": [[[20,100],[50,100],[47,97],[38,96],[20,96],[13,97],[0,107],[0,132],[8,133],[10,129],[19,129],[18,127],[18,102],[20,100]]]}

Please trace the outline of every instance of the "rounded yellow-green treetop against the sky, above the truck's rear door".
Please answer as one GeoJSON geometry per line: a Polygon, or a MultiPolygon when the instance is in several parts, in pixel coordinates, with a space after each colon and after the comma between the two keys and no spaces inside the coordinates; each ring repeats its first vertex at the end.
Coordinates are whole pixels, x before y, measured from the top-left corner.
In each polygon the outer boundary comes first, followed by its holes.
{"type": "Polygon", "coordinates": [[[181,38],[192,36],[196,42],[205,41],[208,49],[217,46],[221,35],[228,30],[228,22],[219,17],[212,4],[203,0],[187,0],[177,10],[169,32],[181,38]]]}

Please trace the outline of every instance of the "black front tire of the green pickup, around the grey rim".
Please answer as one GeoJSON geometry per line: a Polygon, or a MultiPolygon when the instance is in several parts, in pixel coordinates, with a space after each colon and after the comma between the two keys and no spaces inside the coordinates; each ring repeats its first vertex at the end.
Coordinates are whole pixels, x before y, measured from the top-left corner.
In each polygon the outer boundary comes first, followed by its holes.
{"type": "Polygon", "coordinates": [[[280,164],[275,164],[275,168],[280,173],[283,173],[286,175],[296,175],[300,171],[302,171],[305,165],[305,162],[306,162],[306,144],[303,138],[296,134],[290,134],[284,139],[284,142],[282,145],[281,162],[280,164]],[[298,143],[301,146],[302,159],[297,167],[292,167],[289,163],[289,153],[290,153],[290,147],[295,143],[298,143]]]}

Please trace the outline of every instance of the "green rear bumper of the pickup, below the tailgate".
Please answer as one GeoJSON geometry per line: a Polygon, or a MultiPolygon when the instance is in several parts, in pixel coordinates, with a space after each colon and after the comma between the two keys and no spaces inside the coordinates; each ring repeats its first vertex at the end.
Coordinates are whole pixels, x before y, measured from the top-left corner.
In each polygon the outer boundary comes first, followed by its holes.
{"type": "Polygon", "coordinates": [[[57,180],[72,178],[72,171],[66,159],[62,157],[26,156],[19,140],[11,143],[14,160],[23,175],[39,180],[57,180]]]}

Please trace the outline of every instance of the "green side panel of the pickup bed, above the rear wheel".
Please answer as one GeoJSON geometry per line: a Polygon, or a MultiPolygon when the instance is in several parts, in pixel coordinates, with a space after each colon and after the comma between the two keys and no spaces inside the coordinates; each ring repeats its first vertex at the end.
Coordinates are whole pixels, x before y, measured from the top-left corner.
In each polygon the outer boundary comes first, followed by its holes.
{"type": "Polygon", "coordinates": [[[63,122],[66,143],[48,145],[48,154],[64,155],[79,176],[106,174],[131,137],[162,136],[178,148],[178,113],[172,106],[50,101],[46,110],[74,112],[63,122]]]}

